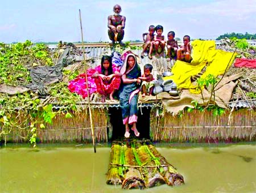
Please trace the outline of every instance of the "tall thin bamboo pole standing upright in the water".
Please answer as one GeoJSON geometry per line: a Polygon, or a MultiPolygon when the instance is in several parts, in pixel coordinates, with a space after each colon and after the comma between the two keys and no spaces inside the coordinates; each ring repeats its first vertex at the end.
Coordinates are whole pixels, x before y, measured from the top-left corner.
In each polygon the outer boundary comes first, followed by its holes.
{"type": "MultiPolygon", "coordinates": [[[[81,37],[82,37],[82,55],[83,55],[83,62],[85,63],[84,35],[82,34],[82,18],[81,18],[80,9],[79,9],[79,18],[80,18],[80,27],[81,27],[81,37]]],[[[87,67],[85,69],[87,70],[87,67]]],[[[94,148],[94,153],[96,153],[96,144],[95,144],[95,141],[94,141],[94,128],[93,128],[93,121],[92,121],[92,110],[90,109],[90,97],[89,97],[89,90],[88,90],[87,73],[85,73],[85,80],[86,80],[87,101],[88,101],[88,106],[89,106],[90,128],[92,130],[93,148],[94,148]]]]}

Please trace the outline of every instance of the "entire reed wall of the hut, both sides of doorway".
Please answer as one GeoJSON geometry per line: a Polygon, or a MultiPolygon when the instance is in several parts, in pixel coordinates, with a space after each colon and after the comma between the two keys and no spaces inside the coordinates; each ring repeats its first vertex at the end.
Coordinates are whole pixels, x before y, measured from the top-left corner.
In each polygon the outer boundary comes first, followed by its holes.
{"type": "MultiPolygon", "coordinates": [[[[108,109],[94,108],[92,113],[96,143],[107,142],[112,131],[108,109]]],[[[21,126],[29,125],[26,117],[17,118],[17,122],[21,126]]],[[[29,128],[11,128],[6,140],[14,143],[27,141],[29,132],[29,128]]],[[[36,134],[38,143],[91,143],[89,111],[84,109],[73,114],[72,118],[65,118],[65,114],[57,115],[46,128],[37,127],[36,134]]],[[[213,115],[213,111],[202,113],[193,110],[173,117],[170,113],[159,115],[158,109],[154,108],[150,113],[150,138],[158,142],[255,141],[256,110],[226,111],[217,117],[213,115]]],[[[4,140],[3,137],[1,140],[4,140]]]]}

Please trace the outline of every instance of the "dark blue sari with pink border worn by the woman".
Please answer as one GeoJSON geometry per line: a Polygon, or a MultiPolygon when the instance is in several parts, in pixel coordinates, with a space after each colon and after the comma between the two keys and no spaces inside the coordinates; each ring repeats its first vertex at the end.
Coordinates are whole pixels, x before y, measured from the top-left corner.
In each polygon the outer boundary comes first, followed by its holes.
{"type": "MultiPolygon", "coordinates": [[[[141,68],[139,67],[136,57],[134,54],[128,54],[126,56],[125,62],[121,67],[121,73],[126,75],[128,79],[137,79],[141,76],[141,68]],[[132,55],[135,58],[134,67],[126,72],[127,58],[132,55]]],[[[124,84],[122,83],[119,87],[119,101],[122,109],[122,118],[123,125],[126,123],[132,124],[137,122],[138,119],[138,93],[140,84],[130,83],[124,84]]]]}

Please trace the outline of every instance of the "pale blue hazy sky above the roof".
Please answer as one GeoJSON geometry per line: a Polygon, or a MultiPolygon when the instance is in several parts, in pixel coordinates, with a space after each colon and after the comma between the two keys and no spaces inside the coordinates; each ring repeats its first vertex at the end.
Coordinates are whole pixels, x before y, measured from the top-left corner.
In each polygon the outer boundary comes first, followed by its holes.
{"type": "Polygon", "coordinates": [[[123,41],[141,40],[149,25],[163,35],[216,39],[224,33],[256,33],[256,0],[0,0],[0,42],[109,41],[108,15],[121,5],[126,16],[123,41]]]}

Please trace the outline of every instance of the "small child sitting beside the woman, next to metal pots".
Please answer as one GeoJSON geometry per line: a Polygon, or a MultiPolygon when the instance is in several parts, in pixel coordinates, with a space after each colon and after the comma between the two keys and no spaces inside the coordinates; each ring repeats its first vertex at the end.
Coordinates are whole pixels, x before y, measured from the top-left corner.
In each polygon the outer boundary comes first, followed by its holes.
{"type": "Polygon", "coordinates": [[[141,85],[141,93],[142,97],[146,95],[152,95],[152,91],[154,88],[154,83],[152,83],[152,80],[154,80],[153,75],[151,74],[153,66],[150,64],[144,65],[144,74],[139,77],[139,79],[142,80],[141,85]]]}

